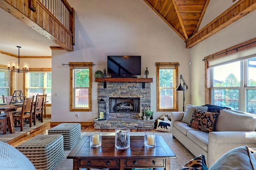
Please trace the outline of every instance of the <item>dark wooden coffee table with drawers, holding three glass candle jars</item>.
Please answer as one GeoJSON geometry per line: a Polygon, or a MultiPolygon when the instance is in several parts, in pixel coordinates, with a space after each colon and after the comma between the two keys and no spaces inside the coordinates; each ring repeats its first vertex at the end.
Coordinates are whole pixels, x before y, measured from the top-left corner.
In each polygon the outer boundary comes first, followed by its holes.
{"type": "Polygon", "coordinates": [[[90,147],[90,136],[84,136],[68,154],[73,169],[79,168],[164,168],[170,170],[170,159],[176,158],[161,136],[156,136],[156,147],[144,146],[144,136],[130,136],[130,147],[115,147],[115,136],[102,136],[102,146],[90,147]]]}

